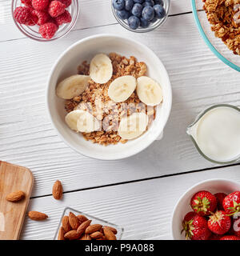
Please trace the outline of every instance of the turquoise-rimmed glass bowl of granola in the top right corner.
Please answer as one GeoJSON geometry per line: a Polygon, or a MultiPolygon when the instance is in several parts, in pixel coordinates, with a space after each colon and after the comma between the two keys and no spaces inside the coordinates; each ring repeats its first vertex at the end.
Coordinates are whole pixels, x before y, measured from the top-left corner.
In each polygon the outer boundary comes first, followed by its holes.
{"type": "Polygon", "coordinates": [[[194,19],[210,50],[240,71],[240,1],[192,0],[194,19]]]}

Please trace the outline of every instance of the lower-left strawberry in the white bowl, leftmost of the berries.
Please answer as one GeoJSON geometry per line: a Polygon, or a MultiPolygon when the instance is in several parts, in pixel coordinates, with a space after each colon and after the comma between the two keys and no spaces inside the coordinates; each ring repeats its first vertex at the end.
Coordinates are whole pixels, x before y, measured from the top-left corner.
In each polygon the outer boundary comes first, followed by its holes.
{"type": "Polygon", "coordinates": [[[193,211],[186,214],[182,221],[182,227],[185,230],[186,239],[207,240],[210,238],[211,232],[207,227],[206,218],[193,211]]]}

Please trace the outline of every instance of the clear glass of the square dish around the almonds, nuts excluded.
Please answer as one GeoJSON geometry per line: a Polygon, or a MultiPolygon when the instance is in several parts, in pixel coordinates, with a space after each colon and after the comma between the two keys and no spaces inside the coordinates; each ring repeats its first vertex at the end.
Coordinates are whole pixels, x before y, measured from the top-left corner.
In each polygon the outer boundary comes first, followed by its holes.
{"type": "Polygon", "coordinates": [[[102,226],[112,226],[112,227],[114,227],[116,230],[118,230],[118,233],[116,234],[117,240],[121,240],[122,234],[123,234],[123,231],[124,231],[124,229],[122,227],[120,227],[118,225],[115,225],[111,222],[106,222],[106,221],[102,220],[101,218],[96,218],[94,216],[91,216],[90,214],[85,214],[85,213],[82,213],[81,211],[74,210],[70,207],[66,207],[63,210],[62,216],[61,216],[59,224],[58,224],[58,228],[57,228],[56,233],[54,235],[54,240],[58,240],[58,231],[59,231],[60,227],[62,226],[62,218],[66,215],[68,216],[70,212],[72,212],[75,215],[80,215],[81,214],[81,215],[86,216],[86,218],[92,220],[91,224],[101,224],[102,226]]]}

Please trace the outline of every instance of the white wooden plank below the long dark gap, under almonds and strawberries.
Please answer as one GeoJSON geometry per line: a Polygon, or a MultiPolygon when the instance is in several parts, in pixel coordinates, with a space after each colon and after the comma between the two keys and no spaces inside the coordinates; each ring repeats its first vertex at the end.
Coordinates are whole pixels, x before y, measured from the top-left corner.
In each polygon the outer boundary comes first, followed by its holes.
{"type": "Polygon", "coordinates": [[[209,178],[226,178],[240,182],[240,167],[156,178],[119,186],[78,191],[30,200],[29,210],[49,215],[44,222],[26,218],[21,239],[53,239],[63,209],[70,206],[125,229],[122,239],[171,239],[171,214],[178,198],[195,183],[209,178]]]}

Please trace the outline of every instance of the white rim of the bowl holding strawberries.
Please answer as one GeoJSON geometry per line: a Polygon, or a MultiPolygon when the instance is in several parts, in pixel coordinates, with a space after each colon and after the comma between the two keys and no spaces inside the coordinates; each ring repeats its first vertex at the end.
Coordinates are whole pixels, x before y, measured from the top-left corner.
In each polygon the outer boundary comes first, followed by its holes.
{"type": "Polygon", "coordinates": [[[230,182],[230,183],[233,183],[235,185],[240,186],[239,182],[234,182],[233,180],[226,179],[226,178],[210,178],[210,179],[206,179],[206,180],[204,180],[202,182],[198,182],[198,183],[194,184],[193,186],[190,186],[190,188],[188,190],[186,190],[181,195],[181,197],[178,199],[178,202],[176,202],[176,204],[174,206],[174,210],[172,211],[172,214],[171,214],[170,229],[171,229],[171,238],[173,240],[176,240],[176,238],[174,238],[174,229],[175,229],[175,226],[174,226],[174,216],[175,216],[175,213],[177,211],[179,203],[182,201],[182,198],[184,198],[186,196],[186,194],[190,192],[190,190],[193,190],[196,186],[202,185],[202,184],[204,184],[206,182],[230,182]]]}

